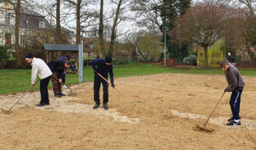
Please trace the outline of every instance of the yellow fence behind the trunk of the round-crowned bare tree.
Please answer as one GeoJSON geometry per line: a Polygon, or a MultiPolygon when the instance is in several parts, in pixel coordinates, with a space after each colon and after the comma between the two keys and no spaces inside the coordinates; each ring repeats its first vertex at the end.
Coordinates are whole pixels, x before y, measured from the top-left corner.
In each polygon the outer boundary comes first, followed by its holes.
{"type": "MultiPolygon", "coordinates": [[[[205,51],[203,49],[198,50],[197,53],[197,66],[205,65],[205,51]]],[[[221,50],[212,50],[207,51],[208,57],[208,66],[219,66],[220,60],[223,58],[223,52],[221,50]]]]}

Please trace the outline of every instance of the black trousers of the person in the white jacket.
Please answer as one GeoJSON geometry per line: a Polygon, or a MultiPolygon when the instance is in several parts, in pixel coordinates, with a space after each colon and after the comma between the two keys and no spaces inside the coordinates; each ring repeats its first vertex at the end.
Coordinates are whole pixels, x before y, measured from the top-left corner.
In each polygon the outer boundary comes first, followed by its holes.
{"type": "Polygon", "coordinates": [[[48,84],[49,84],[50,77],[51,76],[40,80],[40,94],[41,94],[40,104],[49,104],[48,84]]]}

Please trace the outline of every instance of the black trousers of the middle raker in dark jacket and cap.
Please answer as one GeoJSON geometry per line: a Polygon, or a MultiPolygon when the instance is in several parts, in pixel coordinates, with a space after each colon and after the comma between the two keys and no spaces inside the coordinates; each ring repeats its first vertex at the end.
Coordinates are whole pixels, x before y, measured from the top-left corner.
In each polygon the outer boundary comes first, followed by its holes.
{"type": "Polygon", "coordinates": [[[100,104],[100,89],[103,86],[103,104],[108,103],[108,83],[100,77],[94,77],[94,101],[100,104]]]}

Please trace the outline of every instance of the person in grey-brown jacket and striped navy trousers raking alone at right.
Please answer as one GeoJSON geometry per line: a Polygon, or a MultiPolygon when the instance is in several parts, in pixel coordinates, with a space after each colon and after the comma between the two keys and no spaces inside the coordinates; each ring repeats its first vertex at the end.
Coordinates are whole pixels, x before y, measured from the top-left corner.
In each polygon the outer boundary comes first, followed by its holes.
{"type": "Polygon", "coordinates": [[[225,77],[228,82],[228,87],[224,89],[224,92],[232,92],[230,97],[230,108],[233,116],[228,119],[230,123],[227,125],[241,125],[240,122],[240,101],[241,101],[241,92],[245,86],[245,82],[241,78],[239,71],[237,70],[236,66],[229,63],[227,59],[222,59],[220,61],[220,66],[225,72],[225,77]]]}

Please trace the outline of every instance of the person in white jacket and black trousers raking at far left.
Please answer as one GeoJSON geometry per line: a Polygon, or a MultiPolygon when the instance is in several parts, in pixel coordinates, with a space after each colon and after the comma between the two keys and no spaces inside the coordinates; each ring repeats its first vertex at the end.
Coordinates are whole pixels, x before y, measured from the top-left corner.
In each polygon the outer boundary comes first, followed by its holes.
{"type": "Polygon", "coordinates": [[[40,78],[41,101],[36,106],[49,105],[48,84],[52,75],[49,66],[43,60],[33,57],[32,53],[26,55],[26,62],[32,66],[32,86],[35,85],[37,75],[40,78]]]}

